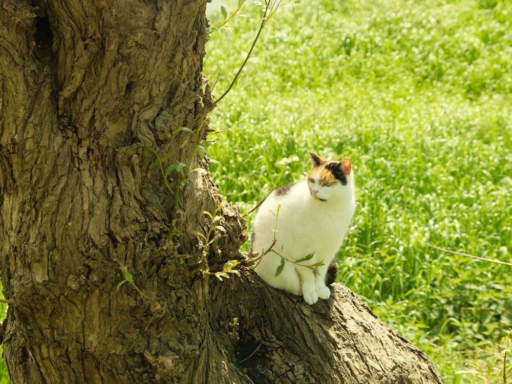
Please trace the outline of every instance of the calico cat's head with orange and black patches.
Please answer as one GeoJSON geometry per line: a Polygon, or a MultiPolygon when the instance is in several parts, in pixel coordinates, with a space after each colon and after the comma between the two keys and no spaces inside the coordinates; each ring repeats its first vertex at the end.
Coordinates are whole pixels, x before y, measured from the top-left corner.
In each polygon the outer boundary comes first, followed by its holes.
{"type": "Polygon", "coordinates": [[[313,169],[308,174],[311,196],[317,201],[337,201],[353,194],[352,163],[348,157],[341,161],[326,160],[309,152],[313,169]]]}

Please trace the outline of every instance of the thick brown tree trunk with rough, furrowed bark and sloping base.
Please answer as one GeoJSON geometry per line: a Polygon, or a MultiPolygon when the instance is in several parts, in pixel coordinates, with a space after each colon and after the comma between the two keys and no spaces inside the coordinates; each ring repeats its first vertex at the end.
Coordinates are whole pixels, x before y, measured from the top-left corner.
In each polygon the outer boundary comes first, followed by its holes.
{"type": "MultiPolygon", "coordinates": [[[[205,7],[0,0],[0,338],[12,381],[442,382],[347,288],[310,307],[246,267],[223,282],[198,271],[202,212],[220,201],[194,140],[212,109],[205,7]],[[178,210],[144,148],[205,171],[189,173],[178,210]],[[122,268],[141,293],[119,286],[122,268]]],[[[176,190],[181,174],[169,181],[176,190]]],[[[212,270],[243,259],[238,209],[220,215],[212,270]]]]}

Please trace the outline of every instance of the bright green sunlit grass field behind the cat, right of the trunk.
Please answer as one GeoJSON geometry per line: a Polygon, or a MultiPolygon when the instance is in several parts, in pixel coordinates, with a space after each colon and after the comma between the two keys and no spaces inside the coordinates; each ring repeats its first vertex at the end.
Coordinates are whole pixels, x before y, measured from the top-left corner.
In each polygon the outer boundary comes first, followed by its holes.
{"type": "MultiPolygon", "coordinates": [[[[217,95],[259,25],[258,7],[242,12],[207,45],[217,95]]],[[[209,150],[221,193],[245,211],[305,175],[307,150],[350,157],[358,207],[339,281],[425,350],[446,383],[474,383],[457,371],[478,350],[490,358],[512,324],[511,267],[426,243],[511,261],[510,7],[318,1],[281,8],[278,23],[210,114],[227,130],[209,150]]]]}

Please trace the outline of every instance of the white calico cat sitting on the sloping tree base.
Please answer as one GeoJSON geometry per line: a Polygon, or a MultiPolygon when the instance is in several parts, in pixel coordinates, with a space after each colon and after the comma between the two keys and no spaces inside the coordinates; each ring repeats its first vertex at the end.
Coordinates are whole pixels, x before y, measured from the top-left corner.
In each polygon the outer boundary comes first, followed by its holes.
{"type": "Polygon", "coordinates": [[[354,214],[355,198],[347,157],[330,161],[309,154],[313,168],[307,179],[272,192],[260,206],[253,220],[252,251],[262,255],[254,269],[267,284],[302,294],[311,305],[331,295],[326,280],[335,280],[335,255],[354,214]],[[318,263],[324,265],[314,267],[316,271],[307,267],[318,263]],[[334,279],[326,276],[328,269],[334,279]]]}

